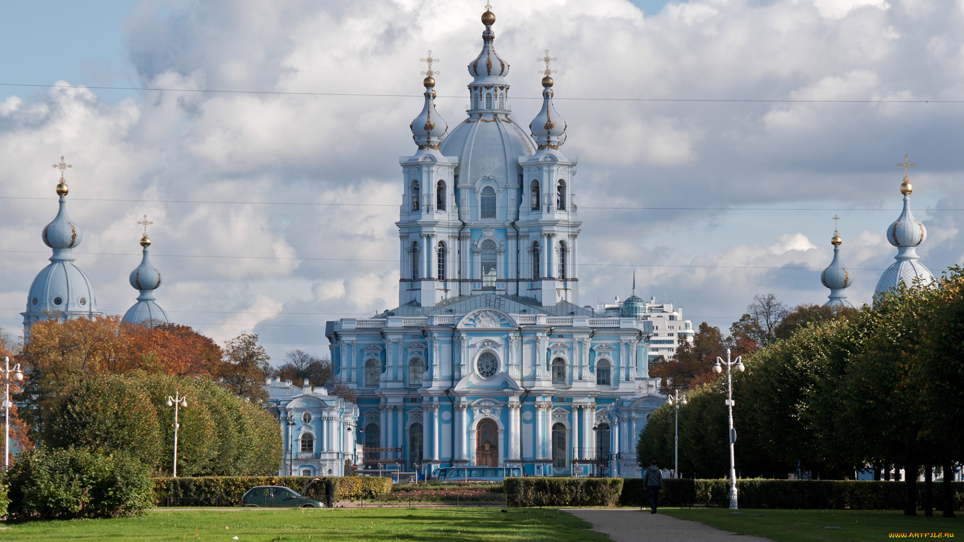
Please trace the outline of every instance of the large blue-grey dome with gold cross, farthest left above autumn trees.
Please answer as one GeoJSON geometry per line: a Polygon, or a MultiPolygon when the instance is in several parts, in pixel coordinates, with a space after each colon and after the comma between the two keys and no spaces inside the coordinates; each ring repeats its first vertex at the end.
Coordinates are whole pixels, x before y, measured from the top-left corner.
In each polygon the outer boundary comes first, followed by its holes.
{"type": "Polygon", "coordinates": [[[67,216],[67,181],[63,172],[71,167],[55,164],[61,170],[57,184],[59,208],[57,216],[43,229],[43,243],[53,249],[50,264],[40,270],[27,293],[27,310],[21,312],[24,331],[29,335],[30,326],[51,317],[59,319],[85,316],[94,318],[97,302],[94,285],[87,275],[74,265],[73,249],[80,245],[81,230],[67,216]]]}

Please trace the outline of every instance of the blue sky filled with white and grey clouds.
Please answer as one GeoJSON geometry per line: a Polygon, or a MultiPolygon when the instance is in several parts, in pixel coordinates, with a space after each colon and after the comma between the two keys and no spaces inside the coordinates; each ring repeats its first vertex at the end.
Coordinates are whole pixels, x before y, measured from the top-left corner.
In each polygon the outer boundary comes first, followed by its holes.
{"type": "MultiPolygon", "coordinates": [[[[38,0],[0,21],[0,325],[19,332],[47,263],[61,154],[76,263],[100,310],[137,292],[153,221],[159,303],[276,358],[327,353],[325,320],[397,305],[398,156],[419,58],[438,109],[468,102],[480,2],[38,0]],[[36,86],[30,86],[36,85],[36,86]],[[43,86],[82,86],[52,89],[43,86]],[[94,87],[170,89],[131,91],[94,87]],[[260,91],[304,94],[199,93],[260,91]]],[[[964,0],[495,2],[515,116],[549,49],[563,150],[579,159],[581,305],[638,293],[728,327],[752,296],[822,303],[839,214],[853,302],[896,250],[896,167],[939,273],[964,243],[964,0]],[[644,98],[644,99],[640,99],[644,98]],[[690,101],[692,100],[692,101],[690,101]],[[794,101],[790,101],[794,100],[794,101]],[[924,102],[926,100],[927,102],[924,102]]]]}

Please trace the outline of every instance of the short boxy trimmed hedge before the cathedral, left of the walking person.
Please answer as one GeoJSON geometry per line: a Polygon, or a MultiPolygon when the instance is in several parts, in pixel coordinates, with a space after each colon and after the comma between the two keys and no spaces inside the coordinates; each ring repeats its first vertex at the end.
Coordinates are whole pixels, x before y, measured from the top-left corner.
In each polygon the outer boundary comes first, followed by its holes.
{"type": "Polygon", "coordinates": [[[623,478],[505,478],[509,506],[615,506],[623,478]]]}

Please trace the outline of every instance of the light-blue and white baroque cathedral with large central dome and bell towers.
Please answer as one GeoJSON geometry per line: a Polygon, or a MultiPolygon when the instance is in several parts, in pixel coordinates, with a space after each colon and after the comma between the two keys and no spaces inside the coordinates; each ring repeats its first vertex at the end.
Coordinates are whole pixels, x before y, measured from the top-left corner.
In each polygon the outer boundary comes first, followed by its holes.
{"type": "Polygon", "coordinates": [[[358,393],[362,469],[638,475],[636,441],[664,402],[648,363],[672,357],[692,325],[635,295],[579,306],[576,160],[560,150],[551,59],[523,127],[495,14],[482,22],[468,117],[448,129],[430,64],[415,154],[399,159],[398,308],[326,328],[335,370],[358,393]]]}

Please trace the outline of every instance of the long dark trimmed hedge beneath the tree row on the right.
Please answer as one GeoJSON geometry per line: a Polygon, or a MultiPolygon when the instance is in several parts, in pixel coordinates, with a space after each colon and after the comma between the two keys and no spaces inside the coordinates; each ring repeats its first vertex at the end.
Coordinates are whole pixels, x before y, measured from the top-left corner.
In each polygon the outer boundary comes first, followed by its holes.
{"type": "MultiPolygon", "coordinates": [[[[955,507],[964,504],[964,482],[951,482],[955,507]]],[[[918,482],[918,508],[924,505],[924,482],[918,482]]],[[[730,506],[730,482],[723,479],[691,480],[664,478],[661,506],[730,506]]],[[[904,482],[863,480],[736,480],[740,508],[803,508],[899,510],[904,503],[904,482]]],[[[934,482],[934,506],[941,507],[943,482],[934,482]]],[[[629,478],[619,503],[649,505],[641,478],[629,478]]]]}

